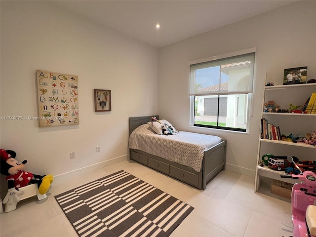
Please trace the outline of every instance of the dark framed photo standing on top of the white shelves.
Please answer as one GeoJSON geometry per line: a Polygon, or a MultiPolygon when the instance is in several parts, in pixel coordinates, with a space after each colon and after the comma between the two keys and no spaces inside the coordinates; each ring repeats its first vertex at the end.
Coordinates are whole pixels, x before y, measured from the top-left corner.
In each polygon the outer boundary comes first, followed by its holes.
{"type": "Polygon", "coordinates": [[[307,67],[284,69],[283,85],[306,83],[307,67]]]}

